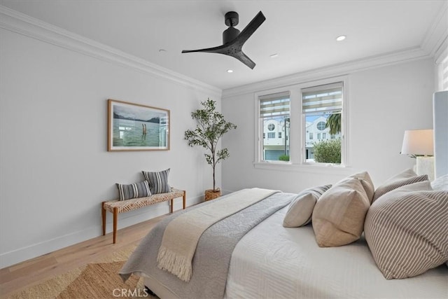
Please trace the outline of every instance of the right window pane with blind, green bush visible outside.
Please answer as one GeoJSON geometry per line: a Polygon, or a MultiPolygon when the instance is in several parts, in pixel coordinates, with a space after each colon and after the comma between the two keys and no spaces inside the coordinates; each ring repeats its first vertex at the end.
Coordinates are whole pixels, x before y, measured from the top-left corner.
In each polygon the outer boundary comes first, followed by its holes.
{"type": "Polygon", "coordinates": [[[307,142],[304,149],[306,162],[341,164],[343,94],[342,82],[302,89],[305,127],[307,130],[316,127],[316,130],[322,131],[317,133],[318,141],[307,142]],[[316,126],[312,125],[314,123],[316,126]],[[326,140],[327,133],[332,135],[330,140],[326,140]]]}

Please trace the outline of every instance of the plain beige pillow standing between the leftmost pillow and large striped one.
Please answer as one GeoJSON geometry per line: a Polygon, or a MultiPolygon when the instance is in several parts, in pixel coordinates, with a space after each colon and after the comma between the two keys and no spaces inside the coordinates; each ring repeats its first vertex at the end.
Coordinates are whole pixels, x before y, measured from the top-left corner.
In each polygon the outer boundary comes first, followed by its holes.
{"type": "Polygon", "coordinates": [[[314,207],[312,222],[321,247],[342,246],[360,238],[370,200],[360,179],[346,178],[323,193],[314,207]]]}

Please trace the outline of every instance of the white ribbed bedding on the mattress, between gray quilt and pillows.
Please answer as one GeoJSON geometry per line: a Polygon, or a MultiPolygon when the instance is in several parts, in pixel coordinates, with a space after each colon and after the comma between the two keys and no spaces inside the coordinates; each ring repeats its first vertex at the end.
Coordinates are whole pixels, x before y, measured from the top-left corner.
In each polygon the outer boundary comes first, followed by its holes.
{"type": "Polygon", "coordinates": [[[226,298],[448,298],[446,265],[418,277],[387,280],[364,239],[320,248],[310,225],[283,228],[286,209],[237,244],[226,298]]]}

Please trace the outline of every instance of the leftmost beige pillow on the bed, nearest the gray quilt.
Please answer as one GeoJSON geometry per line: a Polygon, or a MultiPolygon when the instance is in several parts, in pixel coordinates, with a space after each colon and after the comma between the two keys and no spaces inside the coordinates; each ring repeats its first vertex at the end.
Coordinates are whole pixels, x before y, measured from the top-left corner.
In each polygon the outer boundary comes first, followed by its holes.
{"type": "Polygon", "coordinates": [[[311,222],[311,214],[313,214],[314,205],[319,197],[331,185],[318,186],[303,190],[289,204],[285,218],[283,218],[283,226],[285,228],[298,228],[311,222]]]}

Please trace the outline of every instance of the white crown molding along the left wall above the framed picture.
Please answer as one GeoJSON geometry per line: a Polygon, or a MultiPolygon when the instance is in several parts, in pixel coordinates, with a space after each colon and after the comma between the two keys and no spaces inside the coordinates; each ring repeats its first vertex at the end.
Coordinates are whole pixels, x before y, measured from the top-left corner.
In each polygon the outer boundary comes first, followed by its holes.
{"type": "Polygon", "coordinates": [[[0,5],[0,28],[221,97],[222,90],[0,5]]]}

